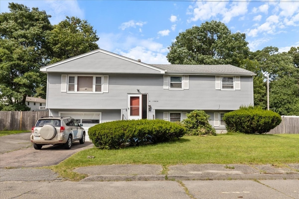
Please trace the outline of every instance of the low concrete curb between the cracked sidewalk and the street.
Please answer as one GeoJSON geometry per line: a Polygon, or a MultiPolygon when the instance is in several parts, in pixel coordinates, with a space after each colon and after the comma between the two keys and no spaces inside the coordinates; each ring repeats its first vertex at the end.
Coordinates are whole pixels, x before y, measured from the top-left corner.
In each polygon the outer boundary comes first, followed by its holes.
{"type": "Polygon", "coordinates": [[[163,181],[163,180],[294,180],[299,174],[242,174],[242,175],[92,175],[81,181],[163,181]]]}

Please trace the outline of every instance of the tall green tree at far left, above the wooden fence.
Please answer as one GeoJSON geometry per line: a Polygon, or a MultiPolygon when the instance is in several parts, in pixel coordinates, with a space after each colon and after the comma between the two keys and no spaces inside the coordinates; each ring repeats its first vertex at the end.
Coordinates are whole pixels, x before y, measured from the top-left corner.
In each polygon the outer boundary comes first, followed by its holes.
{"type": "Polygon", "coordinates": [[[26,96],[41,84],[39,68],[49,61],[51,16],[38,8],[9,3],[0,14],[0,109],[27,110],[26,96]]]}

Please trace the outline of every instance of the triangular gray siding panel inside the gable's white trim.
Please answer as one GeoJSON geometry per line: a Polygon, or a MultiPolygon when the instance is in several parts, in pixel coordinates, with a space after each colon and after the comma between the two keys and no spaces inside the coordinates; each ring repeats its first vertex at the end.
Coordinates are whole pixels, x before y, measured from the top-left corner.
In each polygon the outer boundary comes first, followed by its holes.
{"type": "Polygon", "coordinates": [[[105,53],[94,53],[47,69],[47,72],[161,73],[158,70],[105,53]]]}

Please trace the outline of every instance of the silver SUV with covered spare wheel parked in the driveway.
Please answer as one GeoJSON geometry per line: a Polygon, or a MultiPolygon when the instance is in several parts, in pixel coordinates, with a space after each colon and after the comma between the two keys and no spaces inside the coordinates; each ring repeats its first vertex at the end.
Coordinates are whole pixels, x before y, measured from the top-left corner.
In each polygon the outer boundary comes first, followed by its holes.
{"type": "Polygon", "coordinates": [[[71,117],[48,116],[37,120],[32,127],[30,141],[34,149],[41,149],[48,144],[63,144],[65,149],[70,149],[74,141],[85,142],[85,130],[71,117]]]}

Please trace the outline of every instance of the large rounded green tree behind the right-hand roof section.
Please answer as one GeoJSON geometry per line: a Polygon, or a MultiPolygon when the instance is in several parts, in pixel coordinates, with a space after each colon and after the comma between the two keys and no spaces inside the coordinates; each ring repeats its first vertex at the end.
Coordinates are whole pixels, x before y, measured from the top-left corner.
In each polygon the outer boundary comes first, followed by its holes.
{"type": "Polygon", "coordinates": [[[166,57],[171,64],[239,66],[249,53],[245,38],[245,33],[231,33],[222,22],[207,21],[179,33],[166,57]]]}

